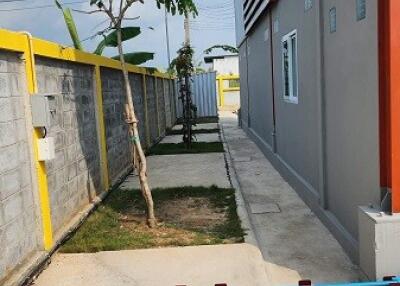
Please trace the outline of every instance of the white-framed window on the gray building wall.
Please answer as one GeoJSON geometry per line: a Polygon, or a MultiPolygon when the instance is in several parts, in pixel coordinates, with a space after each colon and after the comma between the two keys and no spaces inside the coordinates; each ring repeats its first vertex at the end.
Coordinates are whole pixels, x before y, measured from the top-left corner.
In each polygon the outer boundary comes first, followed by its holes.
{"type": "Polygon", "coordinates": [[[297,31],[294,30],[282,38],[282,76],[283,99],[298,102],[297,87],[297,31]]]}

